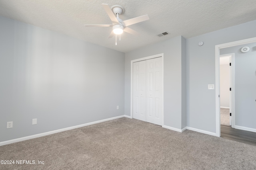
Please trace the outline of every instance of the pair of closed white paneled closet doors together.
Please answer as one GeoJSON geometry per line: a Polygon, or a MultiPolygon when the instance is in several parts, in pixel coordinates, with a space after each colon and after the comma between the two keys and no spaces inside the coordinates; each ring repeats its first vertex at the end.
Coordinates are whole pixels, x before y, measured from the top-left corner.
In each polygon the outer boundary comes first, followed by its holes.
{"type": "Polygon", "coordinates": [[[133,118],[162,125],[162,57],[133,63],[133,118]]]}

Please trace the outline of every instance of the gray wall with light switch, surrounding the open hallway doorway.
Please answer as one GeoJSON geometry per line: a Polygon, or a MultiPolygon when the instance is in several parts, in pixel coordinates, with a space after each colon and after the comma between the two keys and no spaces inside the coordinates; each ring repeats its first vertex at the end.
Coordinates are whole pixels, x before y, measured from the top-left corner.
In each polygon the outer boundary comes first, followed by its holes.
{"type": "Polygon", "coordinates": [[[215,84],[215,45],[256,37],[255,30],[251,21],[186,39],[188,127],[216,133],[215,90],[208,90],[215,84]]]}

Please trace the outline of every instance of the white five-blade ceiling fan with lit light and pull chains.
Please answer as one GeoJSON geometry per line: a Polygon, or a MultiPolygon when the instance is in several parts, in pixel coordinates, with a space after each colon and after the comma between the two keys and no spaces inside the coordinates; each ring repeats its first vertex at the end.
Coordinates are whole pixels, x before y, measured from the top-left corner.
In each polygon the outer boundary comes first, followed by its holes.
{"type": "Polygon", "coordinates": [[[137,31],[135,31],[127,26],[135,24],[135,23],[139,23],[142,21],[149,20],[148,15],[144,15],[144,16],[139,16],[136,18],[132,18],[132,19],[123,21],[119,18],[119,15],[124,13],[124,8],[122,6],[114,5],[111,8],[108,6],[108,4],[102,4],[102,6],[106,10],[110,20],[112,21],[112,24],[94,24],[94,25],[84,25],[84,26],[87,26],[87,27],[112,27],[112,32],[110,33],[108,38],[111,38],[114,35],[120,35],[123,33],[123,31],[130,33],[130,34],[138,35],[137,31]],[[116,14],[116,16],[115,16],[115,14],[116,14]]]}

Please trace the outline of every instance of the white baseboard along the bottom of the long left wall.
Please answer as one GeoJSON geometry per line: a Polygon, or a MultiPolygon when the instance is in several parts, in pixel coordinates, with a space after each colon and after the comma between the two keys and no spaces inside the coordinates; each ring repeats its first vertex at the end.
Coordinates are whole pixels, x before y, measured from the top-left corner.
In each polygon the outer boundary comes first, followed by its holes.
{"type": "Polygon", "coordinates": [[[26,140],[28,140],[28,139],[34,139],[34,138],[38,138],[38,137],[43,137],[43,136],[47,136],[47,135],[52,135],[52,134],[54,134],[54,133],[59,133],[59,132],[63,132],[63,131],[68,131],[68,130],[76,129],[76,128],[79,128],[79,127],[84,127],[84,126],[93,125],[93,124],[96,124],[96,123],[101,123],[101,122],[104,122],[104,121],[110,121],[110,120],[114,120],[114,119],[119,119],[119,118],[121,118],[121,117],[126,117],[126,115],[111,117],[111,118],[103,119],[103,120],[99,120],[99,121],[93,121],[93,122],[85,123],[85,124],[82,124],[82,125],[76,125],[76,126],[72,126],[72,127],[66,127],[66,128],[63,128],[63,129],[55,130],[55,131],[49,131],[49,132],[45,132],[45,133],[39,133],[39,134],[36,134],[36,135],[31,135],[31,136],[27,136],[27,137],[21,137],[21,138],[17,138],[17,139],[12,139],[12,140],[9,140],[9,141],[3,141],[3,142],[0,142],[0,146],[8,145],[8,144],[11,144],[11,143],[16,143],[16,142],[21,142],[21,141],[26,141],[26,140]]]}

